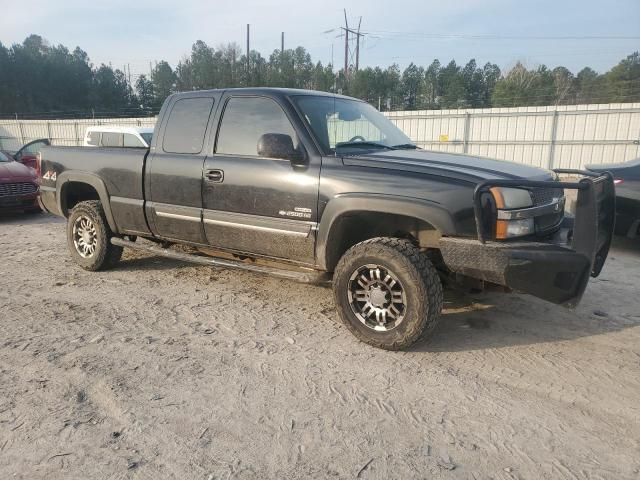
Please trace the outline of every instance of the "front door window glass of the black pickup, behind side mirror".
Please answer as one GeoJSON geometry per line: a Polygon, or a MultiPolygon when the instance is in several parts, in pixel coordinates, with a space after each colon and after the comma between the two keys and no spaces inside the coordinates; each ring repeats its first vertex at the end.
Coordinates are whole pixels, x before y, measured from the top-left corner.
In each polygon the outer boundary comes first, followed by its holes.
{"type": "Polygon", "coordinates": [[[222,117],[216,153],[258,155],[258,140],[265,133],[289,135],[298,148],[295,130],[276,102],[269,98],[231,98],[222,117]]]}

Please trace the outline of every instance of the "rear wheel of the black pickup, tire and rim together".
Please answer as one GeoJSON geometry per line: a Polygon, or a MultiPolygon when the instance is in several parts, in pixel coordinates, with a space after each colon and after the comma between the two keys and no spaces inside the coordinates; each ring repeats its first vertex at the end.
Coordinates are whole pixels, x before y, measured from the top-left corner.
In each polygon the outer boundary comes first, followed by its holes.
{"type": "Polygon", "coordinates": [[[78,203],[67,220],[67,246],[73,260],[85,270],[113,267],[122,256],[122,247],[111,244],[102,204],[97,200],[78,203]]]}

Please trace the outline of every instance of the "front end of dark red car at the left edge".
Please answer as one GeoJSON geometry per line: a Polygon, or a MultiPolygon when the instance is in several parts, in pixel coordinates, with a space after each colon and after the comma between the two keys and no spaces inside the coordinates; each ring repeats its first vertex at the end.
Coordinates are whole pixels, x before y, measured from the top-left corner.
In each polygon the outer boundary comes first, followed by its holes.
{"type": "Polygon", "coordinates": [[[36,170],[0,152],[0,210],[39,212],[36,170]]]}

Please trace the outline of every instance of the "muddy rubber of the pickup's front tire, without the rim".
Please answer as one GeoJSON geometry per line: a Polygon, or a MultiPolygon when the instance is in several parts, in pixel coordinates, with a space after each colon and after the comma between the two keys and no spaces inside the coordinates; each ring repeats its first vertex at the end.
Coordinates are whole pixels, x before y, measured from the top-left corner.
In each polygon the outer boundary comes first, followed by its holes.
{"type": "Polygon", "coordinates": [[[443,307],[442,283],[437,270],[427,255],[420,252],[409,240],[393,237],[376,237],[358,243],[347,250],[334,271],[334,278],[349,275],[351,272],[346,272],[345,266],[358,257],[378,256],[384,258],[385,255],[393,255],[394,253],[402,255],[413,267],[405,269],[405,272],[394,273],[402,273],[409,276],[409,281],[418,287],[418,297],[424,299],[422,306],[426,306],[426,312],[420,315],[419,321],[413,322],[413,324],[409,326],[402,335],[402,338],[393,343],[377,340],[373,335],[364,335],[351,323],[347,317],[351,312],[344,312],[341,308],[341,302],[339,300],[341,292],[338,292],[337,288],[335,288],[338,282],[334,282],[336,307],[342,322],[359,340],[385,350],[405,349],[418,340],[428,337],[435,329],[443,307]],[[426,305],[424,305],[425,303],[426,305]]]}

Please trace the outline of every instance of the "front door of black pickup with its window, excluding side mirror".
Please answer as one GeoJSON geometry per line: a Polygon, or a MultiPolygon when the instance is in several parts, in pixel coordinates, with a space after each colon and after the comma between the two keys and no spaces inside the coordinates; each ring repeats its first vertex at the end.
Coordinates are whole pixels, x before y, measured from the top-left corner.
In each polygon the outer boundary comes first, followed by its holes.
{"type": "Polygon", "coordinates": [[[295,112],[285,109],[266,96],[226,98],[215,153],[204,166],[204,230],[215,247],[311,264],[320,157],[309,154],[295,112]],[[261,155],[258,143],[267,134],[290,137],[306,160],[261,155]]]}

